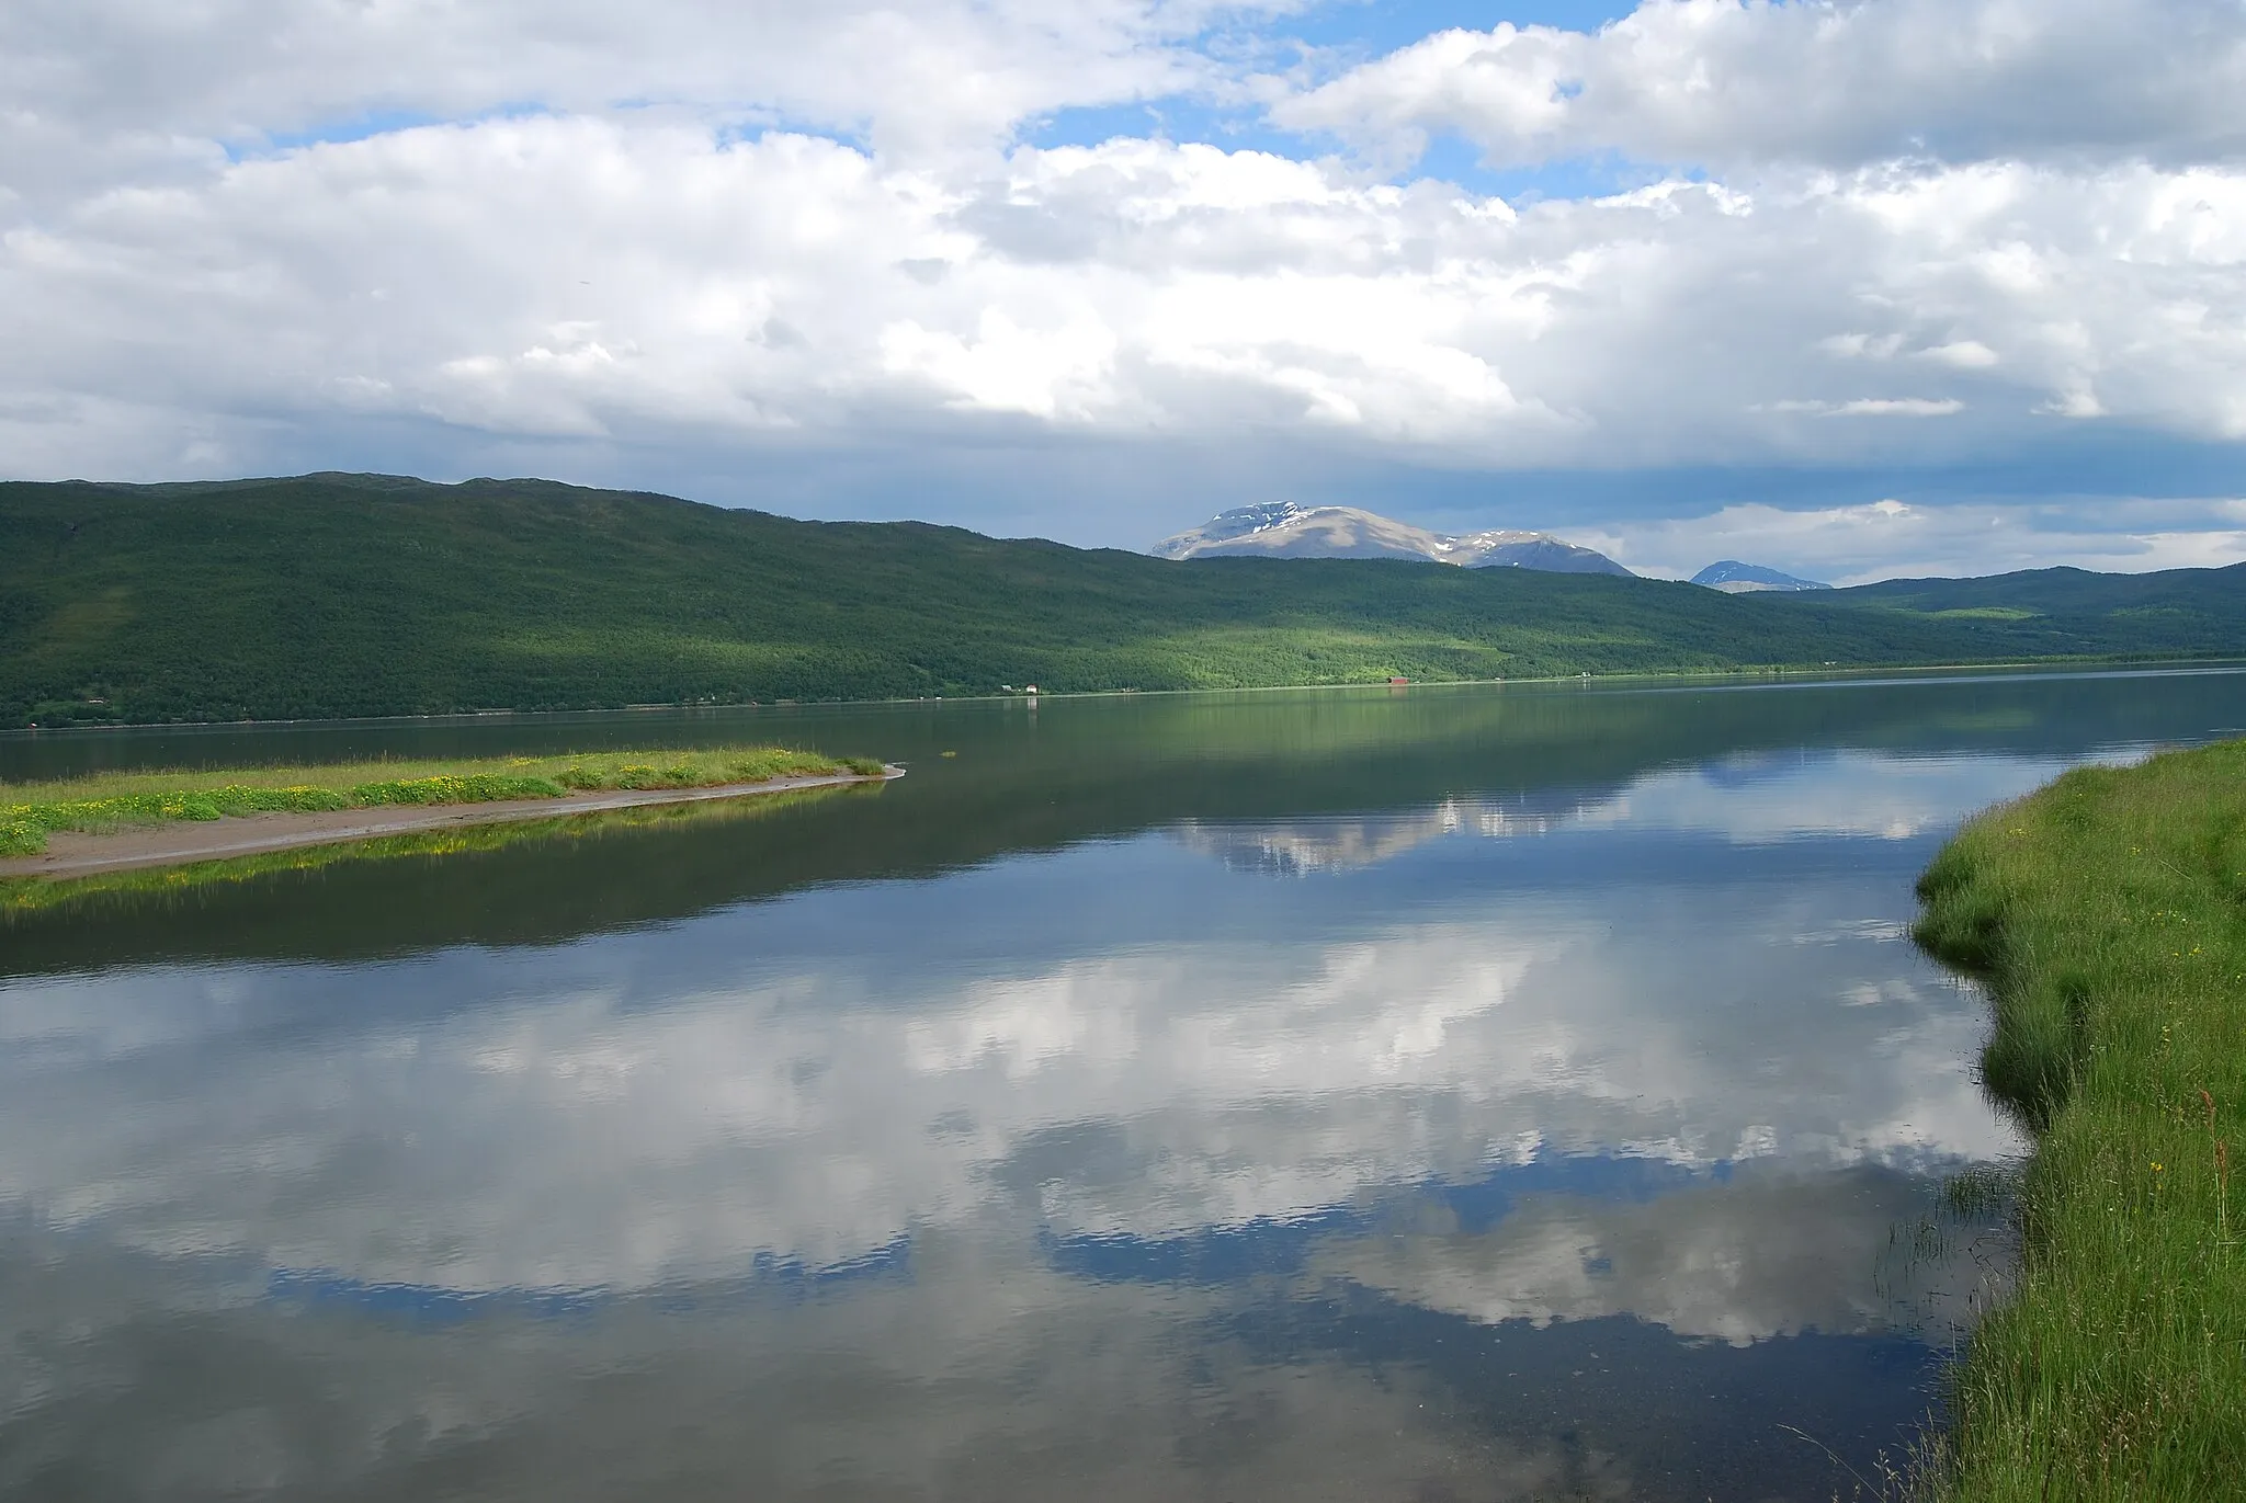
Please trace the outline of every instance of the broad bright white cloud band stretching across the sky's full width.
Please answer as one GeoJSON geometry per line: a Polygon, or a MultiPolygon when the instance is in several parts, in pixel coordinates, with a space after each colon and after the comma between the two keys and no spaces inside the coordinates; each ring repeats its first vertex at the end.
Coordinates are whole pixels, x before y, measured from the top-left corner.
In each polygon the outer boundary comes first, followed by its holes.
{"type": "Polygon", "coordinates": [[[678,124],[429,126],[11,227],[0,429],[25,470],[121,476],[368,416],[716,449],[1300,431],[1469,465],[1920,445],[1833,420],[1893,416],[1947,418],[1952,454],[2089,411],[2235,438],[2237,225],[2246,175],[2215,168],[1514,211],[1193,144],[905,168],[678,124]],[[1866,382],[1880,353],[1925,357],[1866,382]]]}

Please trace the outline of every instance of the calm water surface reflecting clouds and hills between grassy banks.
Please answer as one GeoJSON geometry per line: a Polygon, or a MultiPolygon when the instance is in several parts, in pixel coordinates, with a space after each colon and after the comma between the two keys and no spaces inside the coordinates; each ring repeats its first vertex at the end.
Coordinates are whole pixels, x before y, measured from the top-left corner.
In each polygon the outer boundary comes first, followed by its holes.
{"type": "Polygon", "coordinates": [[[1848,1496],[2003,1276],[1938,1188],[2019,1150],[1911,876],[2237,726],[2109,674],[0,739],[912,766],[0,919],[0,1496],[1848,1496]]]}

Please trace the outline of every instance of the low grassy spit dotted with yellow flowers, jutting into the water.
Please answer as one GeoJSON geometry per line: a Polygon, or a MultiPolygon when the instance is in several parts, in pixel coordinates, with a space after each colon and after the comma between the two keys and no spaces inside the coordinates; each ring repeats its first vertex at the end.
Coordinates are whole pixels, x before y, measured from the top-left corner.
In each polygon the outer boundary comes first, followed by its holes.
{"type": "Polygon", "coordinates": [[[0,784],[0,856],[36,856],[61,829],[106,834],[173,820],[384,804],[487,804],[602,789],[714,789],[775,777],[880,773],[867,757],[822,757],[779,746],[620,750],[469,762],[359,762],[207,773],[121,773],[0,784]]]}

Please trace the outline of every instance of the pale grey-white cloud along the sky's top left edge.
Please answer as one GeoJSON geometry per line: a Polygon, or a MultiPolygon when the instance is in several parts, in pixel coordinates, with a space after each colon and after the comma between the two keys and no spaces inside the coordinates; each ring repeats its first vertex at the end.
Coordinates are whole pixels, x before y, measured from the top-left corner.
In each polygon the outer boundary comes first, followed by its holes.
{"type": "Polygon", "coordinates": [[[0,16],[0,94],[85,133],[227,142],[400,115],[683,108],[966,146],[1062,106],[1213,79],[1186,47],[1289,0],[25,0],[0,16]]]}

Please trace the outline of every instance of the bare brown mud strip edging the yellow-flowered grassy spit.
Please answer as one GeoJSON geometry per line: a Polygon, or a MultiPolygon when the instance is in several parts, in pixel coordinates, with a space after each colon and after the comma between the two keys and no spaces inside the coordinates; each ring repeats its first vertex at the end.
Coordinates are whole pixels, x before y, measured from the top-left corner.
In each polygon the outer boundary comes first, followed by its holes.
{"type": "Polygon", "coordinates": [[[323,813],[249,813],[222,820],[173,820],[115,834],[54,831],[38,856],[0,858],[0,881],[45,876],[99,876],[144,867],[175,867],[229,856],[263,856],[308,845],[348,845],[380,836],[400,836],[454,825],[503,825],[568,813],[602,813],[609,809],[645,809],[656,804],[696,804],[707,800],[755,798],[759,793],[795,793],[804,789],[840,789],[849,784],[885,784],[905,768],[885,766],[878,777],[862,773],[829,773],[820,777],[773,777],[766,782],[710,784],[701,789],[604,789],[564,798],[526,798],[483,804],[377,804],[373,809],[335,809],[323,813]]]}

